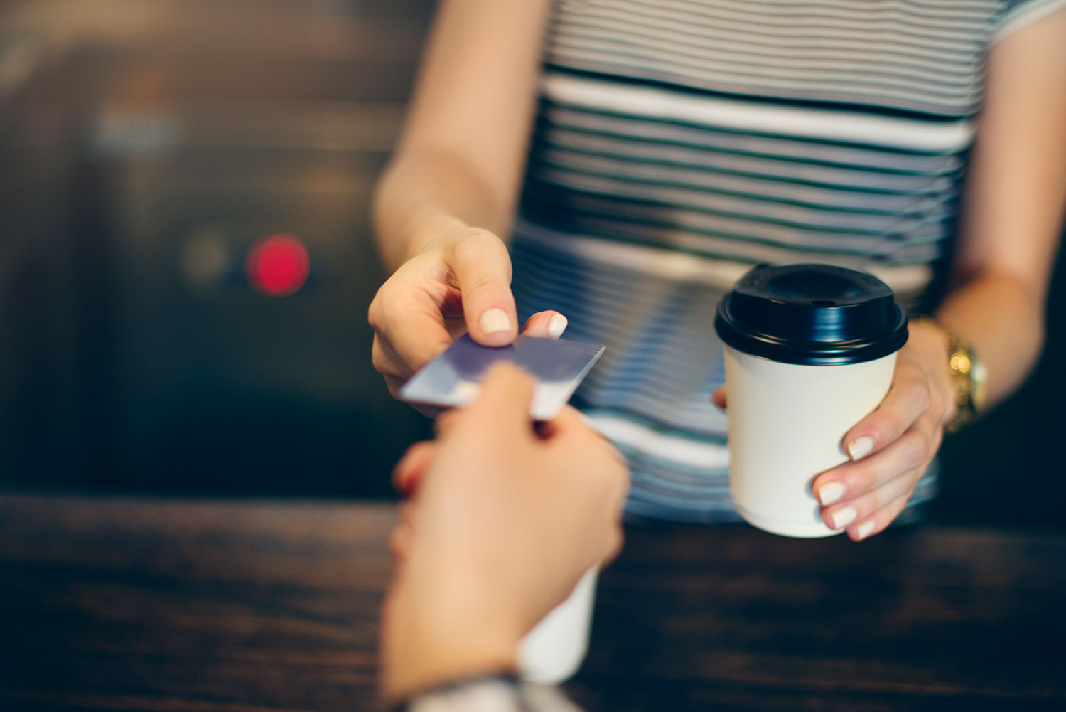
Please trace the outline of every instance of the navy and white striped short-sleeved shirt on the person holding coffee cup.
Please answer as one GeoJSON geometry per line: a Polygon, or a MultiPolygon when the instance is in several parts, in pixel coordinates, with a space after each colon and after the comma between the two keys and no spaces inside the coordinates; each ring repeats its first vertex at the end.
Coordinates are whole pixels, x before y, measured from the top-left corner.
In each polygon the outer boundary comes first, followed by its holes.
{"type": "Polygon", "coordinates": [[[631,515],[737,518],[712,322],[753,265],[865,269],[930,306],[987,48],[1064,6],[555,2],[513,288],[607,345],[575,402],[629,458],[631,515]]]}

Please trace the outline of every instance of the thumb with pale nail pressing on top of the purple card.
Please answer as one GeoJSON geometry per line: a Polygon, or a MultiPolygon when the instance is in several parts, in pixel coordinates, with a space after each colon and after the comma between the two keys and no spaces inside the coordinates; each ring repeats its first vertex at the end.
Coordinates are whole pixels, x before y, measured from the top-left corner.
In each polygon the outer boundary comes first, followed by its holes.
{"type": "Polygon", "coordinates": [[[450,257],[470,337],[482,346],[515,341],[518,312],[511,294],[511,255],[503,240],[481,232],[453,243],[450,257]]]}

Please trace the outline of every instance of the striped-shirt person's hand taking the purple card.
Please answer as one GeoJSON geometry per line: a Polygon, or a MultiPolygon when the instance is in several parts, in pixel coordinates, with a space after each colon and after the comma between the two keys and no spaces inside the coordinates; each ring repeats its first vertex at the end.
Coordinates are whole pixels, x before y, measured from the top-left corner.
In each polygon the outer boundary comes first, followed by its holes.
{"type": "MultiPolygon", "coordinates": [[[[390,276],[370,304],[373,363],[397,396],[419,368],[465,332],[483,346],[518,333],[511,255],[496,235],[461,230],[429,242],[390,276]]],[[[538,312],[522,333],[559,337],[566,317],[538,312]]]]}

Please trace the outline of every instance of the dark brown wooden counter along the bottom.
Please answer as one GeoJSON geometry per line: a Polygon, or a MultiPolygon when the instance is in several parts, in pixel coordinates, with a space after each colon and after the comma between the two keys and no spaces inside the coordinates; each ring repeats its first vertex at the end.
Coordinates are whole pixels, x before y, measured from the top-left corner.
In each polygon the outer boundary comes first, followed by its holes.
{"type": "MultiPolygon", "coordinates": [[[[0,495],[0,710],[373,709],[389,504],[0,495]]],[[[1066,710],[1066,537],[630,527],[589,710],[1066,710]]]]}

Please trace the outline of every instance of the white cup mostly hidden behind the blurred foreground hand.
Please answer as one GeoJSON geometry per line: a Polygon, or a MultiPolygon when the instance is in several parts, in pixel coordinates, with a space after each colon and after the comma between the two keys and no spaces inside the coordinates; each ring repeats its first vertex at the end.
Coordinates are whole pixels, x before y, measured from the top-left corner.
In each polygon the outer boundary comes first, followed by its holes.
{"type": "Polygon", "coordinates": [[[518,671],[522,679],[558,684],[581,667],[588,650],[598,576],[598,566],[586,571],[570,597],[522,638],[518,647],[518,671]]]}

